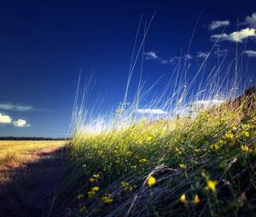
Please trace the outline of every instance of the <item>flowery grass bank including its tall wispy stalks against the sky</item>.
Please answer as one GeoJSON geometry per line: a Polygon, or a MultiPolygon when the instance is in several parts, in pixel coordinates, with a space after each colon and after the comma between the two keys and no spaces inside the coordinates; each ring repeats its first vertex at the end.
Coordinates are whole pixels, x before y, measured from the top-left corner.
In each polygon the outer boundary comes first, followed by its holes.
{"type": "Polygon", "coordinates": [[[256,96],[252,89],[237,98],[248,78],[237,80],[238,56],[223,67],[224,56],[209,70],[217,41],[190,78],[181,57],[166,87],[155,93],[157,82],[145,89],[142,59],[137,93],[127,103],[148,27],[138,46],[137,33],[125,98],[116,111],[86,111],[93,79],[85,83],[80,104],[79,83],[70,143],[74,169],[61,198],[68,193],[69,211],[77,216],[253,215],[256,96]]]}

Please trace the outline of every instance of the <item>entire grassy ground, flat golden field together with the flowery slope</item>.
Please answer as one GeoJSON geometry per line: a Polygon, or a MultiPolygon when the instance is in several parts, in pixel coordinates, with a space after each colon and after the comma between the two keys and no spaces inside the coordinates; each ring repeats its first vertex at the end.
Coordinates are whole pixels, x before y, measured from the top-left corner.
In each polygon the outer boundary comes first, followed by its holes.
{"type": "Polygon", "coordinates": [[[183,117],[129,124],[121,107],[102,131],[78,125],[67,146],[2,141],[0,215],[253,216],[255,102],[250,89],[183,117]]]}

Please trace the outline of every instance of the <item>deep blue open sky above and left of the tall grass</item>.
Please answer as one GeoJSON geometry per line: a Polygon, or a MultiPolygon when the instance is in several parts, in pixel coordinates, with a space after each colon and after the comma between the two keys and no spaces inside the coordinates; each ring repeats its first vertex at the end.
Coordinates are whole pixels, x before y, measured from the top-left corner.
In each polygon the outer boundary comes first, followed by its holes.
{"type": "MultiPolygon", "coordinates": [[[[124,98],[142,14],[144,26],[155,13],[143,54],[143,79],[149,84],[170,76],[177,57],[187,54],[203,9],[186,57],[191,64],[189,76],[218,39],[219,56],[228,53],[227,61],[234,59],[238,44],[239,53],[249,60],[247,73],[254,79],[256,3],[207,2],[0,1],[0,136],[66,134],[80,69],[83,79],[93,71],[96,80],[86,106],[90,108],[107,91],[102,110],[117,106],[124,98]]],[[[216,65],[215,51],[209,66],[216,65]]],[[[158,85],[165,85],[166,79],[158,85]]]]}

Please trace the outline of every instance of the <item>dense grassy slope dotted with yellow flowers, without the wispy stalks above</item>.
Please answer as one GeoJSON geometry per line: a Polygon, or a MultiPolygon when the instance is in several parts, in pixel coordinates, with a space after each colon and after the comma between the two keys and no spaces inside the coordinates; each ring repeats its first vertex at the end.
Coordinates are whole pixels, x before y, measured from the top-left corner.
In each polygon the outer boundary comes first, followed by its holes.
{"type": "Polygon", "coordinates": [[[76,216],[253,216],[255,112],[254,92],[195,118],[74,134],[61,203],[76,216]]]}

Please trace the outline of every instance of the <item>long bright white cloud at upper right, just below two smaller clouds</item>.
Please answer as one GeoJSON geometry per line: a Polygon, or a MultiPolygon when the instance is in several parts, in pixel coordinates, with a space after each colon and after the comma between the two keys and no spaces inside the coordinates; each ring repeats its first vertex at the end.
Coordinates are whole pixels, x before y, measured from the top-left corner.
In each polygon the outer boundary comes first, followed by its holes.
{"type": "Polygon", "coordinates": [[[218,35],[213,35],[211,38],[214,39],[219,39],[221,41],[228,40],[231,42],[236,42],[236,43],[241,43],[243,39],[247,37],[256,37],[256,30],[255,29],[242,29],[240,31],[234,31],[227,35],[226,33],[223,34],[218,34],[218,35]]]}

